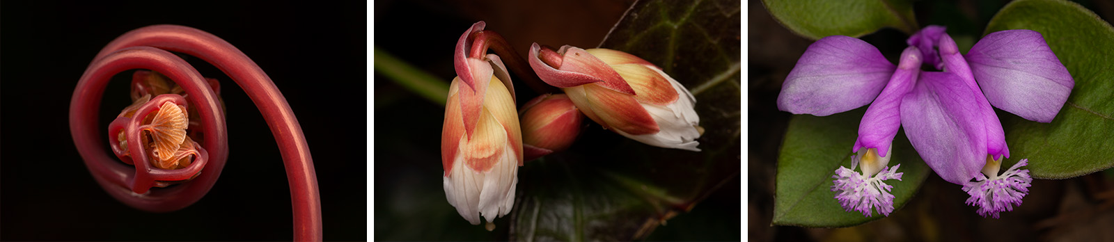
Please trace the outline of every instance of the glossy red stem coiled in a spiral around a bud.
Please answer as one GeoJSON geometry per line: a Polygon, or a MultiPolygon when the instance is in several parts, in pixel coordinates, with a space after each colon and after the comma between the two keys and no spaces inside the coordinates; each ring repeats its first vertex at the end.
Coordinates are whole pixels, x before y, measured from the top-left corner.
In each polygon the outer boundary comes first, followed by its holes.
{"type": "Polygon", "coordinates": [[[131,30],[108,43],[82,74],[70,101],[70,131],[86,165],[114,198],[146,211],[174,211],[193,204],[212,189],[228,157],[224,113],[215,93],[197,71],[167,51],[205,60],[233,79],[255,103],[271,128],[286,168],[294,211],[294,240],[321,241],[321,199],[310,148],[286,99],[271,78],[238,49],[211,33],[182,26],[131,30]],[[157,48],[157,49],[156,49],[157,48]],[[127,167],[104,152],[97,109],[113,74],[150,69],[165,74],[190,95],[204,129],[207,167],[193,181],[137,194],[127,188],[127,167]]]}

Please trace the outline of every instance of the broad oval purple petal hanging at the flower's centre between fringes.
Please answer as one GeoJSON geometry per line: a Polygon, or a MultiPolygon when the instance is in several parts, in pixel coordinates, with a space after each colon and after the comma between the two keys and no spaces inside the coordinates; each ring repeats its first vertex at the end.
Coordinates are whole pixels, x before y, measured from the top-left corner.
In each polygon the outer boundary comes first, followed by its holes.
{"type": "Polygon", "coordinates": [[[901,125],[928,167],[965,184],[986,164],[986,131],[976,93],[949,72],[921,72],[901,100],[901,125]]]}

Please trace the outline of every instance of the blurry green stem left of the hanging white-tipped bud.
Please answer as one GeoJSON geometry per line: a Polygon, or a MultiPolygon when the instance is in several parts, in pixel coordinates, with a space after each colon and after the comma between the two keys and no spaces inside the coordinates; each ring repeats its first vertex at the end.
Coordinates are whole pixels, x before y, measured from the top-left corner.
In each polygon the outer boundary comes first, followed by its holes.
{"type": "Polygon", "coordinates": [[[403,88],[418,93],[427,100],[444,105],[449,98],[449,84],[439,78],[410,65],[403,60],[374,48],[375,72],[387,75],[388,79],[399,83],[403,88]]]}

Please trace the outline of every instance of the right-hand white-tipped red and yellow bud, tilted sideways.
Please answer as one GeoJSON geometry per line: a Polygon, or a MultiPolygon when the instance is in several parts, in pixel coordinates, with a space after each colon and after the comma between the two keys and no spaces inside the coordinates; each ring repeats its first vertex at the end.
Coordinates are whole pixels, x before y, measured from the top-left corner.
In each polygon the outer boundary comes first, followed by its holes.
{"type": "Polygon", "coordinates": [[[561,88],[585,115],[639,142],[700,151],[696,99],[656,65],[633,54],[564,46],[554,52],[530,47],[530,67],[561,88]]]}

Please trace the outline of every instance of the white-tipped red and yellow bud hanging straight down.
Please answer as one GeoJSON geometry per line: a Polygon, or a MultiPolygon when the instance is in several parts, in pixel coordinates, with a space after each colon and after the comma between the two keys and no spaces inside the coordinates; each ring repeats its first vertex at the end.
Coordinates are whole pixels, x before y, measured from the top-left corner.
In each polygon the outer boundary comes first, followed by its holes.
{"type": "Polygon", "coordinates": [[[515,109],[514,85],[498,56],[472,58],[469,36],[483,29],[478,22],[457,44],[457,73],[449,87],[441,164],[446,199],[468,222],[488,223],[515,204],[518,167],[522,164],[522,134],[515,109]]]}

